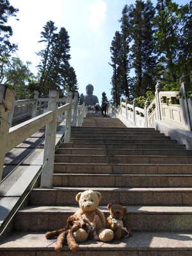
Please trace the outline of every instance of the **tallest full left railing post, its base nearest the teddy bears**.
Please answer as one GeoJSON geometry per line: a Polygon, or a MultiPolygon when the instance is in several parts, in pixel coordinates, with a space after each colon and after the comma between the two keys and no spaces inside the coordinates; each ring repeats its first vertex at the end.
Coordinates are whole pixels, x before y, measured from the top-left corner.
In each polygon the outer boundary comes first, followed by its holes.
{"type": "Polygon", "coordinates": [[[58,108],[59,92],[57,90],[49,90],[48,111],[53,111],[54,117],[52,122],[46,125],[45,145],[44,145],[44,162],[42,169],[42,188],[52,188],[52,173],[54,168],[54,150],[56,141],[57,126],[57,108],[58,108]]]}

